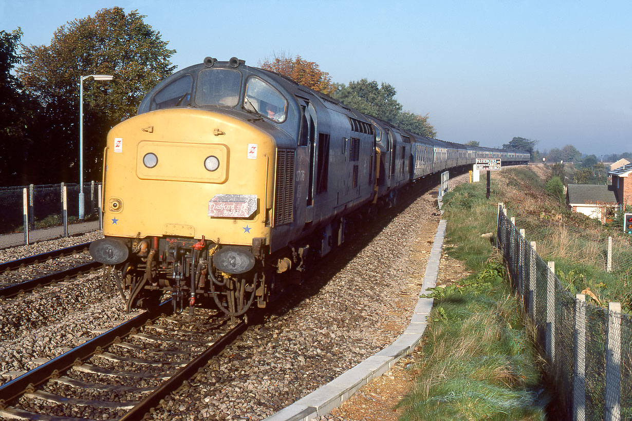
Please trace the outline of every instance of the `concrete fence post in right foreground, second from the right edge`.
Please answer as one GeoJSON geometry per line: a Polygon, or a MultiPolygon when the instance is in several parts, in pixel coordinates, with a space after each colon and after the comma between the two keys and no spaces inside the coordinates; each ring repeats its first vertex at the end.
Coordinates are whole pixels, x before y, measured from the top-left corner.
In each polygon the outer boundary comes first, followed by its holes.
{"type": "Polygon", "coordinates": [[[573,421],[586,419],[586,295],[575,295],[573,421]]]}

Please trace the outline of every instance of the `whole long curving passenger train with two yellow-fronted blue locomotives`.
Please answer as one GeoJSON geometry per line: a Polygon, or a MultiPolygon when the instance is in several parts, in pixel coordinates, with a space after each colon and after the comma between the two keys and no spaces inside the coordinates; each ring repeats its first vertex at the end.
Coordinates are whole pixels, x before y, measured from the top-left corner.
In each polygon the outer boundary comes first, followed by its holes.
{"type": "Polygon", "coordinates": [[[427,138],[231,58],[150,90],[104,150],[104,238],[131,309],[266,307],[406,187],[525,151],[427,138]]]}

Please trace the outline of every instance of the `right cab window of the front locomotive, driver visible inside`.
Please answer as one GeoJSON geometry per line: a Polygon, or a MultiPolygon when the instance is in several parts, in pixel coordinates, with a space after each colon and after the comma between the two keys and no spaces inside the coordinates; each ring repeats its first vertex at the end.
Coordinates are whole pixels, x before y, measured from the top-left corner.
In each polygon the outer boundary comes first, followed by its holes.
{"type": "Polygon", "coordinates": [[[288,101],[281,92],[256,76],[246,83],[243,106],[277,123],[284,122],[288,112],[288,101]]]}

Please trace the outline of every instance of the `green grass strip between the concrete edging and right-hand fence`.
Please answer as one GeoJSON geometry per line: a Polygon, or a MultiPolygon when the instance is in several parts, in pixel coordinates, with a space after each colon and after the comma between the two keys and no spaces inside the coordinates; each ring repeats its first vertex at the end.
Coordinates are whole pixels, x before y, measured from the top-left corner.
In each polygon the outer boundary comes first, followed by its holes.
{"type": "Polygon", "coordinates": [[[401,420],[544,420],[541,366],[494,233],[497,202],[483,183],[444,196],[446,251],[475,271],[435,288],[422,357],[411,370],[413,391],[398,406],[401,420]],[[493,239],[492,239],[493,241],[493,239]]]}

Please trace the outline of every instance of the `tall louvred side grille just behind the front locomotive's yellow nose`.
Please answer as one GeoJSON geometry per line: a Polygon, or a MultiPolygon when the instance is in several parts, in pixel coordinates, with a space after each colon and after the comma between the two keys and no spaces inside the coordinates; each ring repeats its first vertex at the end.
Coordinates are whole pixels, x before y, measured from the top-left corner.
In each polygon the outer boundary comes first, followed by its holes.
{"type": "Polygon", "coordinates": [[[294,150],[277,150],[274,225],[294,220],[294,150]]]}

